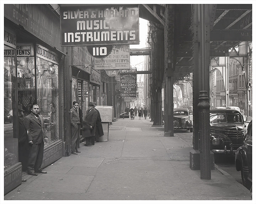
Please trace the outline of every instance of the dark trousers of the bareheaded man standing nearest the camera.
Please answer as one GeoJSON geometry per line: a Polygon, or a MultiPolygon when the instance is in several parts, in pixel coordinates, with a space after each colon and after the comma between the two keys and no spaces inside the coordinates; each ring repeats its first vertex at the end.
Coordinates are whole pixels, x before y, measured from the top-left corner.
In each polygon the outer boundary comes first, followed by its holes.
{"type": "Polygon", "coordinates": [[[41,165],[43,162],[43,149],[44,143],[29,145],[28,154],[28,171],[40,171],[42,170],[41,165]]]}

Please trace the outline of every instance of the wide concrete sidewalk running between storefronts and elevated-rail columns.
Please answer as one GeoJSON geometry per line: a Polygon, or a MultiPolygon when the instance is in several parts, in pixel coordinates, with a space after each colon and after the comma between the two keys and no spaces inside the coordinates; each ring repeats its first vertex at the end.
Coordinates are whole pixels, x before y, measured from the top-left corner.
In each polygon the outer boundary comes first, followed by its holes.
{"type": "MultiPolygon", "coordinates": [[[[251,200],[250,192],[217,168],[211,180],[190,169],[192,149],[178,137],[164,137],[150,119],[118,119],[108,142],[80,145],[47,174],[27,182],[5,200],[251,200]]],[[[243,201],[245,203],[245,201],[243,201]]]]}

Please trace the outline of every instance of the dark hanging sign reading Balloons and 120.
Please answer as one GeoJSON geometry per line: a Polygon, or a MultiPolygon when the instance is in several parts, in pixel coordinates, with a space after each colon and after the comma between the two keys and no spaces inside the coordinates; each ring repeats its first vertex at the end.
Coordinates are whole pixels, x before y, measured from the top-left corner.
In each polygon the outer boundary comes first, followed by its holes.
{"type": "Polygon", "coordinates": [[[136,69],[120,69],[120,91],[137,91],[136,69]]]}

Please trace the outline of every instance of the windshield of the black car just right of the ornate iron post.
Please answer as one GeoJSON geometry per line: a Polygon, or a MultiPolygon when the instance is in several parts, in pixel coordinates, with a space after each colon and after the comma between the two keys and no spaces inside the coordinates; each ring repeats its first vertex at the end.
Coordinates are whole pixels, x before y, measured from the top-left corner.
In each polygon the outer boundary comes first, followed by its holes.
{"type": "Polygon", "coordinates": [[[242,117],[239,114],[217,113],[210,115],[210,123],[242,123],[242,117]]]}

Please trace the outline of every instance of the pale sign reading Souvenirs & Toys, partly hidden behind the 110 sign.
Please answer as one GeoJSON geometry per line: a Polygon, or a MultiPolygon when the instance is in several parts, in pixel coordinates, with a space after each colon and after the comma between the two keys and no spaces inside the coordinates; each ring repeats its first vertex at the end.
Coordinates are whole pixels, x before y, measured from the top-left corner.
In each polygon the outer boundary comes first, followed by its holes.
{"type": "Polygon", "coordinates": [[[130,69],[130,46],[113,45],[107,57],[94,60],[95,69],[130,69]]]}

